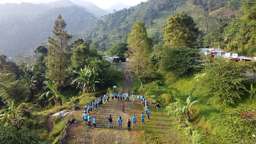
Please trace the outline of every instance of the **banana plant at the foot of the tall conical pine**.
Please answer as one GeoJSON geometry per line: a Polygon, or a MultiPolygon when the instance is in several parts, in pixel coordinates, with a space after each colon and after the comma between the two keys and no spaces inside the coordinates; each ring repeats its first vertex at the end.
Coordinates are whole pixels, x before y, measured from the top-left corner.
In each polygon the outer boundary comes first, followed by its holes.
{"type": "MultiPolygon", "coordinates": [[[[44,81],[43,82],[44,84],[46,84],[46,86],[50,89],[50,91],[48,92],[44,92],[40,97],[39,99],[41,99],[42,97],[44,97],[46,95],[46,97],[48,97],[50,94],[52,94],[52,97],[49,99],[51,100],[53,98],[54,102],[55,102],[55,105],[57,106],[58,105],[58,101],[57,99],[59,97],[61,97],[61,94],[59,91],[57,91],[57,84],[55,82],[52,81],[52,84],[50,84],[48,81],[44,81]]],[[[47,88],[45,87],[45,88],[47,88]]]]}

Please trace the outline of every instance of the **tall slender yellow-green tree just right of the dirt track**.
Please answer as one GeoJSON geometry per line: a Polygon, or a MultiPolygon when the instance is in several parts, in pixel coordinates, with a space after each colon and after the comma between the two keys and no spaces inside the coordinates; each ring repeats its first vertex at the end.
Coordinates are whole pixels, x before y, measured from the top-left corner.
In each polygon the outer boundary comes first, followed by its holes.
{"type": "Polygon", "coordinates": [[[129,34],[128,39],[129,68],[138,77],[143,87],[142,79],[152,74],[150,64],[150,53],[152,51],[152,40],[148,37],[144,23],[136,21],[129,34]]]}

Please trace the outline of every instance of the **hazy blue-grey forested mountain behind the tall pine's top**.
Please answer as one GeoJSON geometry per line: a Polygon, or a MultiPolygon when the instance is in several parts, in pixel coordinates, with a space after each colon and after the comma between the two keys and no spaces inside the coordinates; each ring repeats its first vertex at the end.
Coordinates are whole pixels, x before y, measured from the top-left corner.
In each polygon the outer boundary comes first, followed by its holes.
{"type": "Polygon", "coordinates": [[[34,54],[33,50],[40,42],[47,42],[52,36],[54,21],[61,14],[67,27],[65,30],[78,37],[77,33],[90,28],[97,18],[85,8],[76,5],[52,8],[33,18],[21,15],[0,17],[0,54],[13,57],[15,54],[34,54]]]}

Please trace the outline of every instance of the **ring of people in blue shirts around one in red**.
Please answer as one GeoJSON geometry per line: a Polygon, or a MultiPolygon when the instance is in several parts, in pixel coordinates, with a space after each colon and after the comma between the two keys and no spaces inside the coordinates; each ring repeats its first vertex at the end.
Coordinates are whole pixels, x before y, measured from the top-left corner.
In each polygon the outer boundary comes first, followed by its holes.
{"type": "MultiPolygon", "coordinates": [[[[134,93],[131,93],[131,95],[132,95],[132,102],[134,102],[134,93]]],[[[125,96],[125,94],[124,94],[124,92],[123,93],[112,93],[111,94],[111,97],[112,97],[112,101],[114,100],[114,97],[116,98],[116,100],[122,100],[122,104],[121,104],[121,106],[122,106],[122,112],[124,112],[124,96],[125,96]]],[[[91,101],[89,104],[88,104],[88,106],[85,106],[85,108],[84,108],[84,112],[83,112],[83,117],[84,117],[84,124],[86,124],[86,125],[88,125],[89,127],[92,127],[91,126],[91,119],[92,119],[92,116],[91,116],[91,114],[90,114],[90,111],[92,112],[92,111],[94,111],[94,108],[97,108],[97,105],[100,107],[102,104],[104,104],[104,103],[106,103],[106,99],[107,99],[107,103],[109,102],[109,92],[107,93],[107,94],[105,94],[103,97],[102,96],[100,96],[99,98],[98,98],[98,100],[96,99],[96,100],[93,100],[93,101],[91,101]],[[103,103],[103,100],[104,100],[104,103],[103,103]],[[88,114],[87,114],[87,112],[88,112],[88,114]]],[[[138,96],[137,96],[137,98],[138,98],[138,101],[140,102],[140,100],[141,100],[141,103],[143,104],[143,106],[144,106],[144,110],[146,111],[146,115],[148,116],[148,119],[149,119],[149,115],[150,115],[150,111],[149,111],[149,109],[148,109],[148,100],[147,99],[145,99],[144,98],[144,96],[143,95],[139,95],[138,94],[138,96]]],[[[126,93],[126,101],[129,101],[129,93],[126,93]]],[[[144,115],[144,113],[142,112],[142,114],[141,114],[141,124],[144,124],[144,117],[145,117],[145,115],[144,115]]],[[[111,115],[108,117],[108,126],[109,126],[109,128],[111,127],[111,128],[113,128],[113,124],[112,124],[112,122],[113,122],[113,120],[112,120],[112,117],[111,117],[111,115]]],[[[120,116],[119,118],[118,118],[118,128],[120,128],[120,127],[122,127],[122,122],[123,122],[123,119],[122,119],[122,117],[120,116]]],[[[127,130],[129,131],[131,131],[131,124],[132,124],[132,127],[136,127],[136,122],[137,122],[137,118],[136,118],[136,116],[135,115],[133,115],[133,117],[132,117],[132,121],[130,120],[130,119],[128,119],[128,121],[127,121],[127,130]]],[[[93,116],[93,127],[95,127],[96,128],[96,116],[93,116]]]]}

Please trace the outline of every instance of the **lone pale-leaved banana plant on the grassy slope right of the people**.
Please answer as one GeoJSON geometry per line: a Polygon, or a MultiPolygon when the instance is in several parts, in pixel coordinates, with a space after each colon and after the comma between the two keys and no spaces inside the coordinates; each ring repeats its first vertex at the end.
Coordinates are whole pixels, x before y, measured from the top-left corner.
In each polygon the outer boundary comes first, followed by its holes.
{"type": "Polygon", "coordinates": [[[191,96],[189,96],[189,97],[187,98],[186,103],[183,102],[183,101],[180,100],[180,99],[175,99],[175,100],[179,101],[183,106],[180,107],[180,108],[175,109],[173,113],[176,115],[177,113],[179,113],[180,111],[182,111],[183,115],[187,118],[187,122],[190,122],[190,114],[193,115],[193,112],[192,112],[192,110],[190,109],[190,107],[191,107],[194,103],[198,102],[199,100],[195,100],[195,101],[191,102],[191,96]],[[190,103],[190,102],[191,102],[191,103],[190,103]]]}

